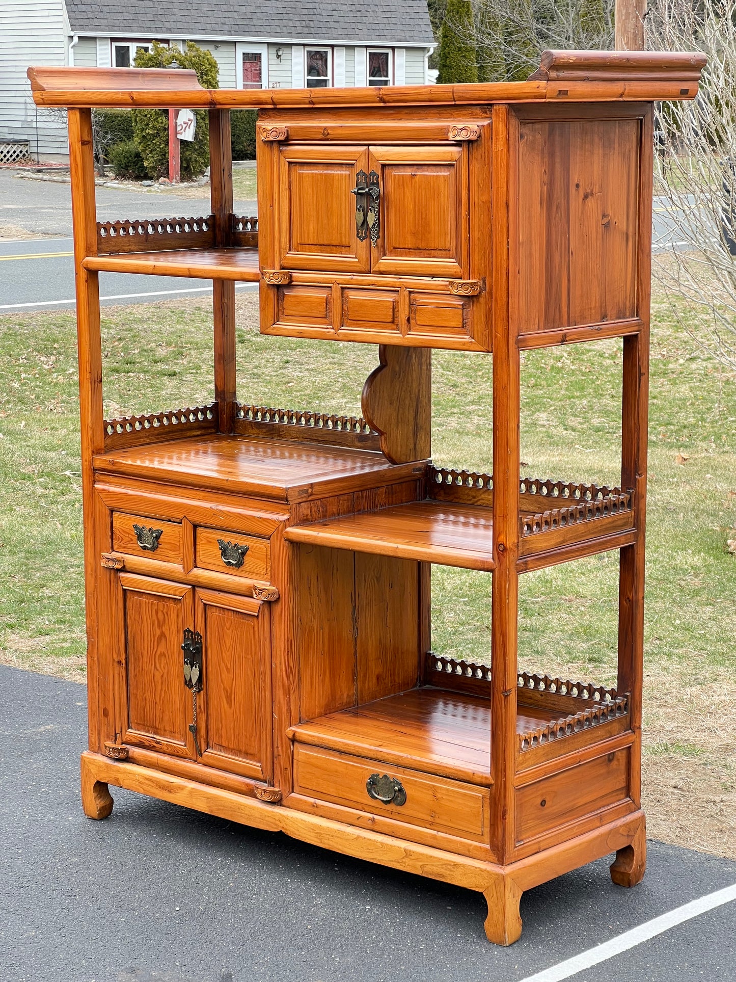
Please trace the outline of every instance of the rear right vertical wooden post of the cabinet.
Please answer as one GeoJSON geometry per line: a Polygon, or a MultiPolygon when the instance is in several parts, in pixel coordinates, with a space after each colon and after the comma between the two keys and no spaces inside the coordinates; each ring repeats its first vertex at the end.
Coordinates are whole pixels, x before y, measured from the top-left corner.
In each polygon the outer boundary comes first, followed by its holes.
{"type": "Polygon", "coordinates": [[[641,803],[642,685],[644,680],[644,573],[649,425],[649,333],[652,276],[653,108],[642,121],[639,175],[637,304],[642,326],[623,342],[621,486],[634,491],[636,541],[620,551],[618,579],[618,690],[630,693],[631,799],[641,803]]]}

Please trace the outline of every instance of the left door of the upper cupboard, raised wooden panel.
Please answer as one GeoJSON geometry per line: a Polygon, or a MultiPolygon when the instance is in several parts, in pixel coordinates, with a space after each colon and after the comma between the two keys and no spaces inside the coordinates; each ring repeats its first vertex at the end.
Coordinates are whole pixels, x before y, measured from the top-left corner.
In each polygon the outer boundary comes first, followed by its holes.
{"type": "Polygon", "coordinates": [[[370,242],[356,235],[355,188],[368,151],[283,146],[279,160],[280,251],[285,269],[368,272],[370,242]]]}

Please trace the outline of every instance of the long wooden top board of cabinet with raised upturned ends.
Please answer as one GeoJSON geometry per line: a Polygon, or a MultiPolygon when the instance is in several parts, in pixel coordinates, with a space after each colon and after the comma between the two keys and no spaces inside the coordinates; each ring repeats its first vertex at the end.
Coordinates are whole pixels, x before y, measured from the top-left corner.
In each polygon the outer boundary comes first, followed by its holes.
{"type": "Polygon", "coordinates": [[[700,52],[545,51],[527,82],[365,88],[205,89],[181,69],[31,67],[27,76],[38,106],[268,110],[693,99],[705,64],[700,52]]]}

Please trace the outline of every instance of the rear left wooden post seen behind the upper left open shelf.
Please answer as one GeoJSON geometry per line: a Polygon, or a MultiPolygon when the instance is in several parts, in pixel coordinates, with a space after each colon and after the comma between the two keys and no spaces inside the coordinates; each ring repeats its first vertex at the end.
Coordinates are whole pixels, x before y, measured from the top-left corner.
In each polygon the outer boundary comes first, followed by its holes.
{"type": "MultiPolygon", "coordinates": [[[[233,156],[230,110],[211,109],[210,189],[215,216],[215,245],[232,246],[233,156]]],[[[215,321],[215,401],[221,433],[232,433],[236,392],[236,285],[233,280],[213,280],[215,321]]]]}

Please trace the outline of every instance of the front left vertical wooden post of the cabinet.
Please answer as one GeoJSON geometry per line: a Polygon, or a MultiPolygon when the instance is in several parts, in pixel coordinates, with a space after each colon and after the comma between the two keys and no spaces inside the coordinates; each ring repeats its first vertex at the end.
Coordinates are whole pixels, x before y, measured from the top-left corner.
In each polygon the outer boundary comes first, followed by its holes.
{"type": "Polygon", "coordinates": [[[79,357],[79,423],[81,430],[81,492],[84,521],[84,589],[87,635],[89,748],[99,749],[97,688],[97,597],[99,556],[95,551],[95,507],[92,458],[104,449],[102,417],[102,345],[98,274],[82,268],[82,260],[97,254],[97,215],[94,200],[92,114],[70,109],[69,164],[72,184],[75,284],[79,357]]]}

